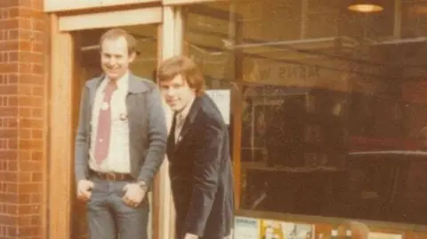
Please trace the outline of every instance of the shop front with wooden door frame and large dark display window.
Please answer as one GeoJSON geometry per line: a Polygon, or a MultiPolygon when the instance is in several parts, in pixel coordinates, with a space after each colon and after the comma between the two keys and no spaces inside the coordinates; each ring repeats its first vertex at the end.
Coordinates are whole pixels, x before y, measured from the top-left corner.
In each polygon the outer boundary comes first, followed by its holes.
{"type": "MultiPolygon", "coordinates": [[[[426,238],[427,5],[394,0],[357,12],[350,2],[44,0],[48,155],[61,159],[49,161],[49,238],[85,237],[72,139],[108,28],[137,38],[135,74],[153,78],[161,60],[184,54],[208,89],[230,92],[235,238],[327,238],[351,225],[371,238],[426,238]]],[[[153,239],[173,238],[166,169],[150,195],[153,239]]]]}

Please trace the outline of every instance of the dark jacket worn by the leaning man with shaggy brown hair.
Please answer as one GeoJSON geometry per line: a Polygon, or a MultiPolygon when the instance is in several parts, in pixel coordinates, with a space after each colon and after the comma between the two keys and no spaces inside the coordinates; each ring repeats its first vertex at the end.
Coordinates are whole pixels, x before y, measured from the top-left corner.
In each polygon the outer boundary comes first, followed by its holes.
{"type": "Polygon", "coordinates": [[[230,235],[234,212],[229,133],[207,95],[194,100],[179,139],[175,145],[173,123],[167,155],[176,239],[186,233],[222,239],[230,235]]]}

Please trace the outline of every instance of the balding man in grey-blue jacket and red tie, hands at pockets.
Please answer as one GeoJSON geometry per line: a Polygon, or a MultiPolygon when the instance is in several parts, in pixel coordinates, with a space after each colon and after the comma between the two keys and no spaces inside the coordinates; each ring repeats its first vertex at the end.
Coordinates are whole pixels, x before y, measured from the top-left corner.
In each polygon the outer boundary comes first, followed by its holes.
{"type": "Polygon", "coordinates": [[[136,40],[101,36],[102,76],[85,83],[76,137],[77,198],[91,239],[147,239],[147,193],[165,157],[165,112],[156,84],[134,76],[136,40]]]}

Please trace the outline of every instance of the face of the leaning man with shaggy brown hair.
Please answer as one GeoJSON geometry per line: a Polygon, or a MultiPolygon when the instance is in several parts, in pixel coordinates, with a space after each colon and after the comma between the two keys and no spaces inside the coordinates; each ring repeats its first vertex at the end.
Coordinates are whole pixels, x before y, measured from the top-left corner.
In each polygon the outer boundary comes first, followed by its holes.
{"type": "Polygon", "coordinates": [[[171,81],[160,83],[160,91],[166,103],[175,112],[181,112],[196,97],[196,91],[189,88],[189,84],[181,75],[173,77],[171,81]]]}

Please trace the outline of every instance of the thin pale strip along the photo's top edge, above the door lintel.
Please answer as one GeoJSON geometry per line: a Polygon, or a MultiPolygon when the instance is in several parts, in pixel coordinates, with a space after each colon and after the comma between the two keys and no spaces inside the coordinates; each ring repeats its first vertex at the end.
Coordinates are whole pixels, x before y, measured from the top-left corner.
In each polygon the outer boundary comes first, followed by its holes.
{"type": "Polygon", "coordinates": [[[64,12],[71,10],[159,2],[161,2],[161,0],[44,0],[44,12],[64,12]]]}

